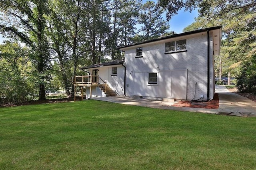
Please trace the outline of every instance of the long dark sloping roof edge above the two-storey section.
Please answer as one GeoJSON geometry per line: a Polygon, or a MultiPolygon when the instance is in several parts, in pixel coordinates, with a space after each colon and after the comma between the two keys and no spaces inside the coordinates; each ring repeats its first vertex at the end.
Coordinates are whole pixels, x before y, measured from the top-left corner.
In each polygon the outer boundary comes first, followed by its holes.
{"type": "Polygon", "coordinates": [[[216,29],[220,29],[220,28],[222,28],[222,26],[204,28],[204,29],[201,29],[201,30],[195,30],[195,31],[190,31],[190,32],[184,32],[184,33],[181,33],[181,34],[173,34],[173,35],[171,35],[171,36],[160,37],[160,38],[156,38],[156,39],[154,39],[154,40],[149,40],[149,41],[146,41],[146,42],[139,42],[139,43],[132,43],[132,44],[129,44],[129,45],[124,45],[124,46],[122,46],[122,47],[118,47],[118,49],[122,49],[122,48],[125,48],[125,47],[131,47],[131,46],[134,46],[134,45],[141,45],[141,44],[149,43],[149,42],[156,42],[156,41],[165,40],[165,39],[168,39],[168,38],[174,38],[174,37],[179,37],[179,36],[186,36],[186,35],[190,35],[190,34],[196,34],[196,33],[200,33],[200,32],[206,32],[206,31],[216,30],[216,29]]]}

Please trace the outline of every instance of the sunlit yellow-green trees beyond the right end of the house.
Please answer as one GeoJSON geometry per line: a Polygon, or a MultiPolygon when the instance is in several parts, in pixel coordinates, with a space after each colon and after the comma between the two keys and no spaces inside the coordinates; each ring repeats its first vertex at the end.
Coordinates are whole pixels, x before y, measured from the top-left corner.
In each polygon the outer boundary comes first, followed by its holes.
{"type": "Polygon", "coordinates": [[[238,83],[242,91],[252,89],[253,80],[246,78],[246,75],[252,72],[253,77],[255,68],[247,68],[245,65],[241,67],[240,63],[253,61],[252,55],[256,55],[256,4],[250,0],[242,3],[236,0],[198,2],[200,17],[184,31],[222,25],[221,50],[220,56],[215,57],[215,73],[219,73],[221,67],[222,76],[227,76],[230,72],[232,77],[239,77],[238,83]]]}

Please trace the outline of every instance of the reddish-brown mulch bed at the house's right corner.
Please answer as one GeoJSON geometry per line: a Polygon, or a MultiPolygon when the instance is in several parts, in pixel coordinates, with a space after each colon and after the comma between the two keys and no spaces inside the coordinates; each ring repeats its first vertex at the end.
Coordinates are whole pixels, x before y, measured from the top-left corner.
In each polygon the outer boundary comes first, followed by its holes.
{"type": "MultiPolygon", "coordinates": [[[[202,103],[202,102],[200,102],[202,103]]],[[[193,107],[193,108],[204,108],[204,109],[218,109],[219,108],[219,97],[218,94],[215,93],[212,100],[208,102],[203,102],[206,105],[191,105],[191,101],[179,101],[175,103],[174,107],[193,107]]]]}

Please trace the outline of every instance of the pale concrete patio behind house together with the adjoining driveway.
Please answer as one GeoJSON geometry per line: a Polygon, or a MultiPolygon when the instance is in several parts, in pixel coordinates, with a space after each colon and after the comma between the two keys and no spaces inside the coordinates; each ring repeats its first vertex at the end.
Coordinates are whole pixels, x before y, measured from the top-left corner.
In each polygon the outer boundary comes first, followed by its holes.
{"type": "Polygon", "coordinates": [[[246,97],[231,93],[226,89],[225,86],[216,86],[215,93],[219,94],[219,109],[202,109],[202,108],[191,108],[191,107],[173,107],[176,101],[159,101],[132,98],[125,96],[111,96],[111,97],[100,97],[92,98],[99,101],[107,101],[112,103],[120,103],[125,105],[136,105],[142,107],[151,107],[157,109],[168,109],[175,111],[188,111],[188,112],[199,112],[209,114],[220,114],[220,115],[232,115],[240,117],[256,117],[256,102],[247,99],[246,97]]]}

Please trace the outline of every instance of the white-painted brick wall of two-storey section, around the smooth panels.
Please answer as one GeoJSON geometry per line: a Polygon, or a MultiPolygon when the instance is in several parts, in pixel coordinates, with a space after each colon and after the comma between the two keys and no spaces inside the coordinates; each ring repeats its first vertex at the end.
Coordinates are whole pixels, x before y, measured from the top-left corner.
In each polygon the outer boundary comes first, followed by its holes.
{"type": "MultiPolygon", "coordinates": [[[[182,40],[184,38],[181,38],[182,40]]],[[[154,45],[142,44],[143,57],[135,58],[135,47],[125,51],[126,65],[126,95],[134,94],[134,73],[136,72],[161,72],[168,70],[187,69],[187,99],[192,100],[200,95],[207,97],[207,34],[189,37],[186,39],[187,51],[165,54],[165,42],[155,42],[154,45]]],[[[170,41],[172,41],[170,39],[170,41]]],[[[210,39],[210,98],[213,96],[214,61],[212,53],[212,37],[210,39]]],[[[148,74],[145,74],[147,76],[148,74]]],[[[161,82],[160,82],[161,83],[161,82]]],[[[164,90],[158,88],[158,90],[164,90]]],[[[162,97],[162,96],[152,96],[162,97]]]]}

